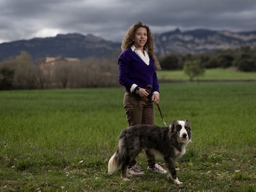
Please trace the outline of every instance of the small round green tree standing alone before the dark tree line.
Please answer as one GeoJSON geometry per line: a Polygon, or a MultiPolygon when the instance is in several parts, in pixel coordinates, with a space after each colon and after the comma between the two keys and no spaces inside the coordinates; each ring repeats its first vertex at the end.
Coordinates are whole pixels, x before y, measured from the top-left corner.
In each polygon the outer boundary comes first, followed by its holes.
{"type": "Polygon", "coordinates": [[[203,75],[205,68],[203,67],[200,60],[186,61],[183,67],[184,73],[189,75],[189,80],[193,81],[195,77],[203,75]]]}

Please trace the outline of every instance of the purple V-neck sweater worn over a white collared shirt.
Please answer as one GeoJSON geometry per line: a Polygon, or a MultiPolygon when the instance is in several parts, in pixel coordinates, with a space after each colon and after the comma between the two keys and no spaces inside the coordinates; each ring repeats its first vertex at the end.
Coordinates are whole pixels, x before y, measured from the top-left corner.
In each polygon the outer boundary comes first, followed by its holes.
{"type": "MultiPolygon", "coordinates": [[[[141,88],[147,88],[151,85],[154,91],[159,92],[158,78],[153,58],[150,56],[150,64],[147,65],[140,59],[140,57],[132,51],[126,49],[121,52],[119,59],[119,83],[130,92],[130,87],[135,83],[141,88]]],[[[150,95],[151,96],[151,95],[150,95]]]]}

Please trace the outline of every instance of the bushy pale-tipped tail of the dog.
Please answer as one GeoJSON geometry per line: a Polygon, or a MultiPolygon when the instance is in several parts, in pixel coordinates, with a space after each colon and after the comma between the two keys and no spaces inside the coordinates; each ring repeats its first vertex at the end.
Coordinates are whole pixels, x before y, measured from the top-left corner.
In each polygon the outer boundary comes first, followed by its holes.
{"type": "Polygon", "coordinates": [[[122,164],[124,164],[124,148],[122,145],[122,140],[119,140],[117,151],[108,161],[108,173],[114,173],[122,164]]]}

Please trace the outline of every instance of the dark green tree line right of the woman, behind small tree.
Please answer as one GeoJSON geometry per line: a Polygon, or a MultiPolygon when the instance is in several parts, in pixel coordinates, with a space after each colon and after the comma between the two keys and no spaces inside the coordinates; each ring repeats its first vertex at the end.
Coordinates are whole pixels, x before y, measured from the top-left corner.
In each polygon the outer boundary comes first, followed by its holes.
{"type": "Polygon", "coordinates": [[[205,69],[236,67],[244,72],[256,71],[256,49],[245,46],[202,54],[172,53],[161,59],[164,70],[181,70],[186,61],[199,61],[205,69]]]}

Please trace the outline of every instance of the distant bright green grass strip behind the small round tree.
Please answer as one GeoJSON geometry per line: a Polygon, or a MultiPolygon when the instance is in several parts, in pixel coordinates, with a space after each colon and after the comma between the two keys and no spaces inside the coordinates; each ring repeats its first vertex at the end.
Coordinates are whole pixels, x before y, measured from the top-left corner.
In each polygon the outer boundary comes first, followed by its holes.
{"type": "MultiPolygon", "coordinates": [[[[182,70],[160,70],[158,78],[165,81],[188,81],[187,76],[182,70]]],[[[207,69],[205,74],[195,80],[201,81],[227,81],[227,80],[256,80],[256,72],[241,72],[235,69],[207,69]]]]}

